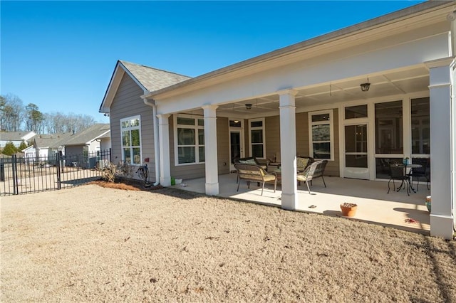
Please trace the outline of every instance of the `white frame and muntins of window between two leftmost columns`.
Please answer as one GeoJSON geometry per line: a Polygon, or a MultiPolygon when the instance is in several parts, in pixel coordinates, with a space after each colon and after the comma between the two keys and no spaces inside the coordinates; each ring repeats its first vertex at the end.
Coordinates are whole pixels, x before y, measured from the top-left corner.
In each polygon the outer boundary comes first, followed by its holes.
{"type": "MultiPolygon", "coordinates": [[[[178,114],[174,115],[173,117],[173,130],[174,130],[174,163],[175,166],[185,166],[185,165],[195,165],[195,164],[204,164],[205,161],[199,161],[199,147],[204,147],[204,142],[199,142],[199,135],[198,135],[198,130],[203,129],[204,130],[204,125],[198,125],[198,119],[202,119],[204,121],[204,118],[201,116],[197,115],[186,115],[186,114],[178,114]],[[195,125],[187,125],[187,124],[177,124],[177,117],[182,117],[182,118],[189,118],[189,119],[195,119],[195,125]],[[178,144],[178,139],[177,139],[177,128],[187,128],[187,129],[195,129],[195,144],[192,145],[179,145],[178,144]],[[179,147],[194,147],[195,148],[195,162],[191,163],[179,163],[179,147]]],[[[204,151],[206,149],[204,148],[204,151]]],[[[205,159],[205,157],[204,157],[205,159]]]]}

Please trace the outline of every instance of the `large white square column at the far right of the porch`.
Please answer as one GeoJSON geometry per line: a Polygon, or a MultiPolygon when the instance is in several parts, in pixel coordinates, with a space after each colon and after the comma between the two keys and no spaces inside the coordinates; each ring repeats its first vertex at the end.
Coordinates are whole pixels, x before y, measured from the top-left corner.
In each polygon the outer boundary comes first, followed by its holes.
{"type": "MultiPolygon", "coordinates": [[[[430,92],[431,196],[430,234],[451,239],[453,234],[455,186],[452,164],[455,148],[452,140],[452,58],[427,62],[430,92]]],[[[453,122],[454,123],[454,122],[453,122]]]]}

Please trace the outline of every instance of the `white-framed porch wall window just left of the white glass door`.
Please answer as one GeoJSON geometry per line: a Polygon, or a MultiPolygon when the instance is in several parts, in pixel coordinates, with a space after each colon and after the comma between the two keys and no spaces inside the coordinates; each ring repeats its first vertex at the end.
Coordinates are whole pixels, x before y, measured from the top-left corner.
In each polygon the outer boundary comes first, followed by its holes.
{"type": "Polygon", "coordinates": [[[314,159],[334,159],[333,110],[309,112],[309,137],[314,159]]]}

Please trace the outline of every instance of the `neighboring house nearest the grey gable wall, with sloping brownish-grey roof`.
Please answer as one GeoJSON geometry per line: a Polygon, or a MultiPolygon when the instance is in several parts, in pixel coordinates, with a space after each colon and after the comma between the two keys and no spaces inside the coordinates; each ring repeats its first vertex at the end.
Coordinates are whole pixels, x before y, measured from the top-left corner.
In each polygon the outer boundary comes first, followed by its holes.
{"type": "Polygon", "coordinates": [[[100,138],[103,136],[110,137],[109,124],[93,124],[81,132],[66,138],[65,142],[62,143],[65,148],[65,154],[67,156],[70,154],[82,154],[83,152],[93,154],[96,151],[100,151],[100,138]]]}

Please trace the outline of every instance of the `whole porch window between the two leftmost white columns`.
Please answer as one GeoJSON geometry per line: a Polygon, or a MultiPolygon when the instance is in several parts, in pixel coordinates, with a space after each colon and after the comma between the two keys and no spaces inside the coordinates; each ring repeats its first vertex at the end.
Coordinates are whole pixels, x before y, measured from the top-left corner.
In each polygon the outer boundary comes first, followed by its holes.
{"type": "Polygon", "coordinates": [[[175,115],[176,164],[204,163],[204,119],[175,115]]]}

